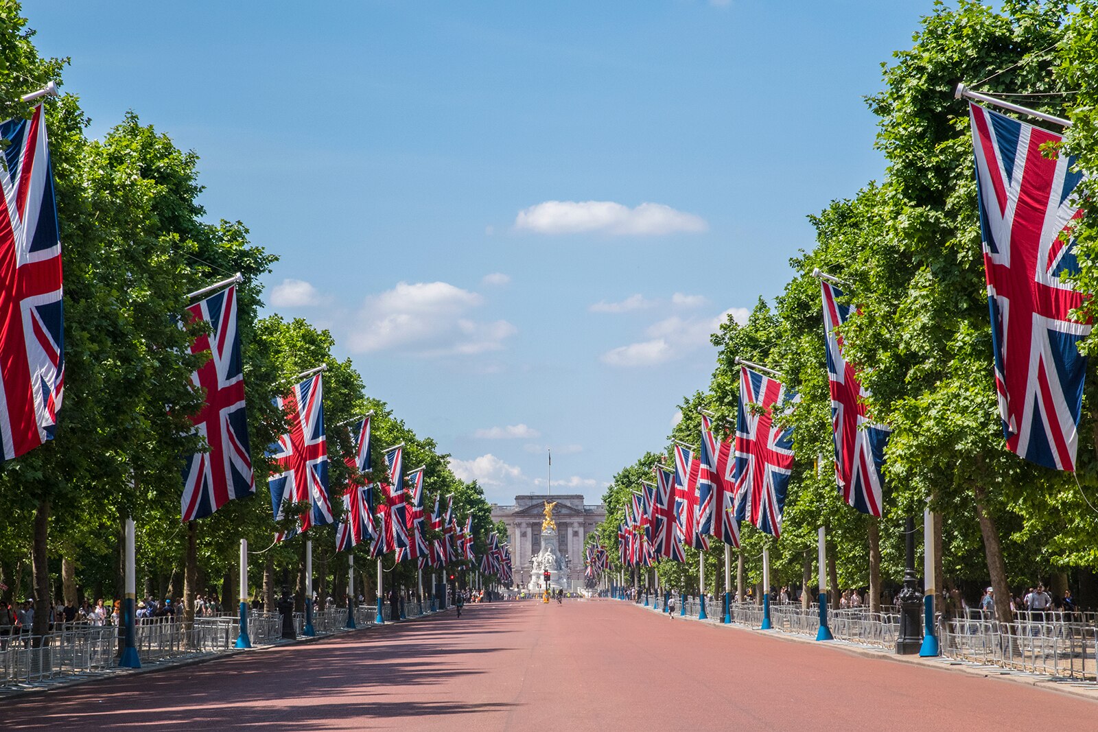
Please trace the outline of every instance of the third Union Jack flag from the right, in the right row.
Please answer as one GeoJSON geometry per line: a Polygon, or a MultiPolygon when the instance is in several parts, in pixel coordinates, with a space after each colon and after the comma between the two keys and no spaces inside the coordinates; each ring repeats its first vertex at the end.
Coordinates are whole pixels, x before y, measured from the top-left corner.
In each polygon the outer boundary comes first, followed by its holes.
{"type": "Polygon", "coordinates": [[[793,427],[774,426],[792,407],[793,396],[776,379],[740,367],[736,420],[736,518],[773,537],[782,533],[782,509],[793,472],[793,427]]]}

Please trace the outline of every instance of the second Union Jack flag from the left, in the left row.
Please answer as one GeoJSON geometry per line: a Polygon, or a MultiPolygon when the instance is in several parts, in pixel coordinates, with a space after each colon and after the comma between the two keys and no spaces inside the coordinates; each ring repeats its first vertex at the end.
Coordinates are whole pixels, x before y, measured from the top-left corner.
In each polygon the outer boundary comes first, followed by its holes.
{"type": "Polygon", "coordinates": [[[195,452],[183,466],[181,498],[184,521],[210,516],[234,498],[256,492],[248,447],[248,415],[244,405],[240,338],[236,329],[236,286],[187,308],[194,320],[213,331],[191,344],[191,353],[210,351],[210,360],[191,374],[195,390],[205,391],[202,410],[191,417],[209,452],[195,452]]]}

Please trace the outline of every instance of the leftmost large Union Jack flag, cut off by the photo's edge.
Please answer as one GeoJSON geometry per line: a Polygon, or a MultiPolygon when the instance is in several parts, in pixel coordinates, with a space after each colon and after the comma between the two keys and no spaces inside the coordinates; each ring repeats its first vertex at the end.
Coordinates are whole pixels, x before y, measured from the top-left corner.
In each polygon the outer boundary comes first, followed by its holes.
{"type": "Polygon", "coordinates": [[[54,439],[65,391],[61,243],[42,105],[0,123],[0,442],[11,460],[54,439]]]}

